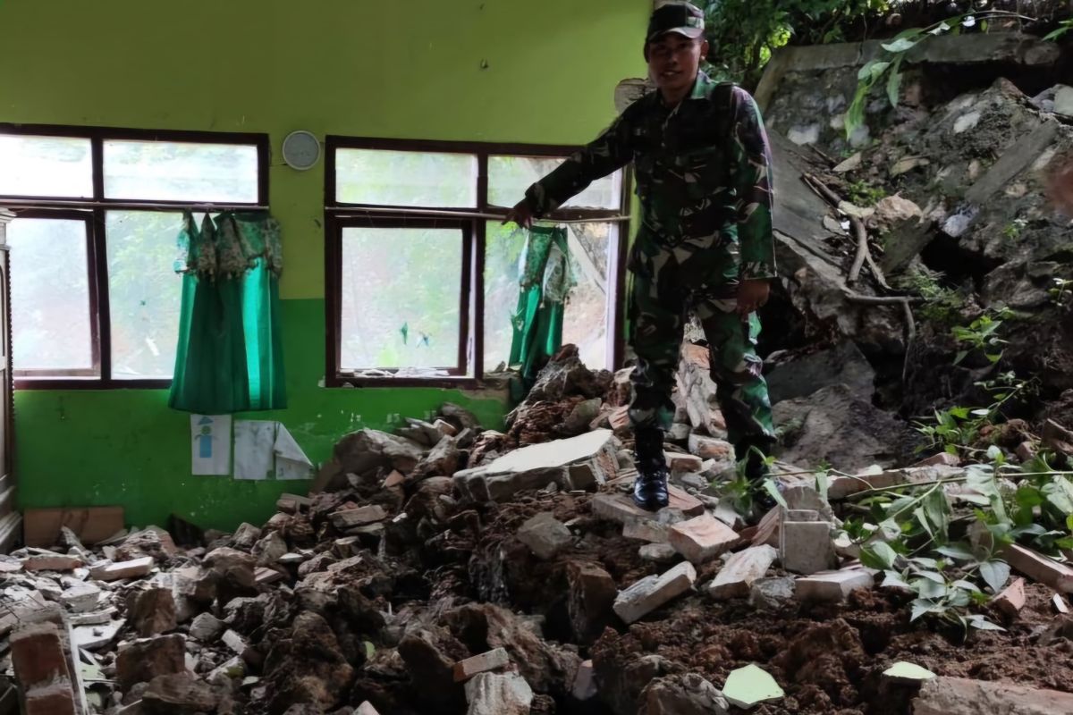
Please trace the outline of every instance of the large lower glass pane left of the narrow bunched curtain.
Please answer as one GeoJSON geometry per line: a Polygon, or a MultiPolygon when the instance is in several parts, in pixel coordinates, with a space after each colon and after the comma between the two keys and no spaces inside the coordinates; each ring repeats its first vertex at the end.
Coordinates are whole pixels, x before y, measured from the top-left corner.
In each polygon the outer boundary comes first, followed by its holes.
{"type": "Polygon", "coordinates": [[[342,230],[340,370],[456,368],[462,232],[342,230]]]}

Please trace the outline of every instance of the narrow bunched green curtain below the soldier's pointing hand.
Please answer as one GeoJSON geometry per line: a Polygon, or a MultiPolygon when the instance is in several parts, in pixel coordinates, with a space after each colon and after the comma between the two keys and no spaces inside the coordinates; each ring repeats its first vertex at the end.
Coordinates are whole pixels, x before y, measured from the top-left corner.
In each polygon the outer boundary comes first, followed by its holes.
{"type": "Polygon", "coordinates": [[[518,307],[513,316],[512,367],[528,389],[536,374],[562,347],[562,315],[575,285],[570,270],[567,229],[535,226],[520,258],[518,307]]]}

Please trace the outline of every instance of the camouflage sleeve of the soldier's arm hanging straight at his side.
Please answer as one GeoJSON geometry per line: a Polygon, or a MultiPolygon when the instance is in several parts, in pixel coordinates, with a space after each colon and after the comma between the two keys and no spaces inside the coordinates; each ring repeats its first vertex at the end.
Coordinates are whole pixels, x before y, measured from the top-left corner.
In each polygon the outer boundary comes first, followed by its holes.
{"type": "Polygon", "coordinates": [[[771,150],[760,108],[749,92],[734,88],[731,111],[730,149],[737,191],[741,280],[769,280],[777,275],[771,234],[771,150]]]}

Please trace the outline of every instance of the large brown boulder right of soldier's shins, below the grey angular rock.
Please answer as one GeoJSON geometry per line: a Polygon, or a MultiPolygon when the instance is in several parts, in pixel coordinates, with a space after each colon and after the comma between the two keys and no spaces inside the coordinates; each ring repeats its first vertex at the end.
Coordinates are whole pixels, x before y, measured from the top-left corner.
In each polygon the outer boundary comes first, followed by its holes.
{"type": "Polygon", "coordinates": [[[891,464],[898,435],[905,432],[902,423],[844,385],[783,400],[774,411],[776,423],[795,426],[783,437],[783,461],[817,464],[826,460],[851,474],[871,464],[891,464]]]}

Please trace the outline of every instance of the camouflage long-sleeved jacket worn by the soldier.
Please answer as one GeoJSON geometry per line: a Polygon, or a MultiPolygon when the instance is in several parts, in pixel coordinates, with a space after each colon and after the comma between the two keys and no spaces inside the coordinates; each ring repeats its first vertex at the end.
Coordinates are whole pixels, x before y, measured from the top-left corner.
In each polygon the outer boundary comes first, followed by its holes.
{"type": "Polygon", "coordinates": [[[646,94],[530,187],[529,207],[542,217],[631,161],[641,198],[637,248],[673,249],[681,263],[691,252],[727,247],[743,279],[775,277],[771,155],[748,92],[702,72],[677,107],[659,92],[646,94]]]}

